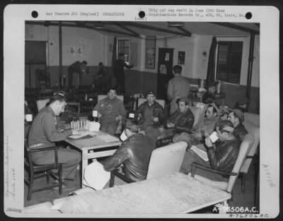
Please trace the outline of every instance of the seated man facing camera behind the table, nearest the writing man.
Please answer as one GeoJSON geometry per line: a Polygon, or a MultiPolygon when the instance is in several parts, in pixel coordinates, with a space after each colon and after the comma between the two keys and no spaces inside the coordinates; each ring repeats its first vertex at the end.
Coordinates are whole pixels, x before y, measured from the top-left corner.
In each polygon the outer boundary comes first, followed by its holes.
{"type": "Polygon", "coordinates": [[[108,97],[100,100],[93,110],[98,111],[100,130],[110,135],[115,135],[119,121],[126,117],[127,111],[122,100],[116,97],[116,89],[110,88],[108,97]]]}

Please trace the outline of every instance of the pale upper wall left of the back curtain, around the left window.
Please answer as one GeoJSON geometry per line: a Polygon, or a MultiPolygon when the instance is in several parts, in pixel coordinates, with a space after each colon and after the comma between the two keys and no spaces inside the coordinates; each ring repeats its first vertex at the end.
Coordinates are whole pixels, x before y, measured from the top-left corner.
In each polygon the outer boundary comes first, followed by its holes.
{"type": "MultiPolygon", "coordinates": [[[[47,41],[47,68],[50,72],[50,86],[59,83],[59,27],[43,25],[26,25],[25,40],[47,41]]],[[[62,74],[66,76],[68,82],[68,66],[75,61],[86,60],[88,62],[89,73],[96,73],[98,63],[101,61],[108,66],[112,61],[108,36],[95,30],[86,28],[71,28],[62,26],[62,74]],[[74,53],[71,52],[74,49],[74,53]],[[81,53],[79,53],[81,49],[81,53]],[[109,57],[111,59],[109,60],[109,57]]],[[[35,85],[35,69],[30,68],[30,87],[35,85]]],[[[28,85],[29,67],[25,66],[25,85],[28,85]]]]}

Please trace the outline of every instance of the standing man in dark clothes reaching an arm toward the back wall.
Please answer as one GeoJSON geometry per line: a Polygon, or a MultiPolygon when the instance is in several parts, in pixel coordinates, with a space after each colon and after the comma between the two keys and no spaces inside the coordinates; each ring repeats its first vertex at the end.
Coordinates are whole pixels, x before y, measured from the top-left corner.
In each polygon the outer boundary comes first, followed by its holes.
{"type": "Polygon", "coordinates": [[[127,65],[125,62],[125,54],[119,53],[117,61],[115,61],[113,73],[117,80],[116,85],[119,86],[120,92],[125,92],[125,68],[132,68],[134,65],[127,65]]]}

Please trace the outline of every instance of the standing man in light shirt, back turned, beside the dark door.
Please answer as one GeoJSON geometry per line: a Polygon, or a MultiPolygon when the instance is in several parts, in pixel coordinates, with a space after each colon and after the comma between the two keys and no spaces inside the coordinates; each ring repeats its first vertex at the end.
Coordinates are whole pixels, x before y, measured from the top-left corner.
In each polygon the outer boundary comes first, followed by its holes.
{"type": "Polygon", "coordinates": [[[180,97],[188,97],[190,95],[190,81],[188,78],[181,76],[182,66],[173,66],[174,78],[169,80],[167,97],[171,101],[170,114],[178,109],[176,101],[180,97]]]}

